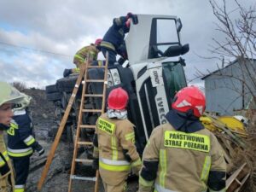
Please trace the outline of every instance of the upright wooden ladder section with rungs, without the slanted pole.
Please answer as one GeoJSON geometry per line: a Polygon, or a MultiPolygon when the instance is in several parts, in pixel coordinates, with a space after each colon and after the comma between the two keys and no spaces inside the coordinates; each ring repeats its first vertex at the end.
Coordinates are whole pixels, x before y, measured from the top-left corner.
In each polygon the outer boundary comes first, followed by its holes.
{"type": "Polygon", "coordinates": [[[93,143],[92,142],[84,142],[82,141],[81,138],[81,129],[95,129],[96,125],[89,125],[89,124],[84,124],[83,123],[83,115],[84,113],[104,113],[105,110],[105,96],[106,96],[106,88],[108,84],[108,54],[106,58],[106,64],[105,66],[85,66],[85,71],[84,71],[84,81],[83,81],[83,91],[82,91],[82,96],[81,96],[81,103],[80,103],[80,108],[79,108],[79,122],[78,122],[78,127],[76,131],[76,137],[74,140],[74,149],[73,149],[73,160],[72,160],[72,166],[71,166],[71,173],[69,177],[69,183],[68,183],[68,192],[72,191],[72,184],[73,180],[84,180],[84,181],[94,181],[95,183],[95,192],[98,191],[98,180],[99,180],[99,172],[96,171],[96,177],[79,177],[75,175],[75,168],[76,168],[76,163],[92,163],[92,160],[87,160],[87,159],[78,159],[78,149],[80,146],[84,147],[92,147],[93,143]],[[104,79],[88,79],[88,69],[90,68],[104,68],[104,79]],[[102,83],[103,84],[103,89],[102,89],[102,94],[86,94],[86,86],[87,83],[102,83]],[[85,99],[89,99],[90,97],[94,98],[102,98],[102,108],[85,108],[86,106],[84,105],[85,99]]]}

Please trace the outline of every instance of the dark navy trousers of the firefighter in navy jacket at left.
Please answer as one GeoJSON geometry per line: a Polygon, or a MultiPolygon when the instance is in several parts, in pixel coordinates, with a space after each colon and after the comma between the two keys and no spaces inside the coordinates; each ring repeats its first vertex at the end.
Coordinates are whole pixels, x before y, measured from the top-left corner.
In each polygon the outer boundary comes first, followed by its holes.
{"type": "Polygon", "coordinates": [[[26,185],[26,179],[29,172],[30,156],[19,157],[13,159],[15,167],[15,192],[23,192],[26,185]]]}

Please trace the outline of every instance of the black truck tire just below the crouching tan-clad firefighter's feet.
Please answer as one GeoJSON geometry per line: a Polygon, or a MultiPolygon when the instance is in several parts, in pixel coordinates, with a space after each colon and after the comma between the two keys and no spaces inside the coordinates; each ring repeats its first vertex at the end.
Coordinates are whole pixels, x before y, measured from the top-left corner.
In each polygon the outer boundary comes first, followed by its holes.
{"type": "Polygon", "coordinates": [[[56,88],[60,92],[72,92],[74,85],[76,84],[76,81],[78,79],[78,75],[71,75],[66,78],[62,78],[57,80],[56,82],[56,88]]]}

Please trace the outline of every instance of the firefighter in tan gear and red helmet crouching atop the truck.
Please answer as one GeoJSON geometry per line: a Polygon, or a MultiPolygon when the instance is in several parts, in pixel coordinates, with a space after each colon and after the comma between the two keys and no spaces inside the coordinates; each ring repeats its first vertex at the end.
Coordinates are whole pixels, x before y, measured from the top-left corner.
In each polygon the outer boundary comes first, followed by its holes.
{"type": "Polygon", "coordinates": [[[86,61],[96,61],[98,53],[100,51],[98,49],[98,46],[101,44],[101,42],[102,39],[97,38],[94,44],[90,44],[89,46],[85,46],[82,49],[79,49],[79,51],[77,51],[77,53],[73,57],[73,63],[77,67],[72,69],[65,69],[63,77],[67,77],[72,73],[80,73],[80,69],[86,61]]]}

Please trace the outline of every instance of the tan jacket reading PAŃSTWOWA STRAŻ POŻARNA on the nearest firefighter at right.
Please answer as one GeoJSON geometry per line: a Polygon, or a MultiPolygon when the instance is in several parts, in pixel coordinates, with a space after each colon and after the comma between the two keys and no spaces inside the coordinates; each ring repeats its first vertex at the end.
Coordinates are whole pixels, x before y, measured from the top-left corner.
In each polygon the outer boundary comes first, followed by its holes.
{"type": "Polygon", "coordinates": [[[210,131],[184,133],[169,123],[152,131],[143,152],[143,165],[152,161],[158,165],[156,178],[150,181],[140,175],[140,192],[153,187],[158,192],[207,191],[209,172],[226,172],[222,149],[210,131]]]}

